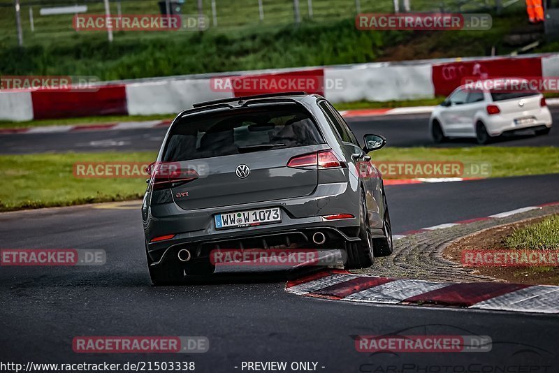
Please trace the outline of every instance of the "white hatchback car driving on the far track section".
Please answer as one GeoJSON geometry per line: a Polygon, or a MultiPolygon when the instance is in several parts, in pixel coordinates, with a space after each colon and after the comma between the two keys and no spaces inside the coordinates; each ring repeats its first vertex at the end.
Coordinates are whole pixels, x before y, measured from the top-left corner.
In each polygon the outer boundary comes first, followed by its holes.
{"type": "MultiPolygon", "coordinates": [[[[480,87],[496,87],[502,82],[502,79],[485,80],[480,87]]],[[[479,144],[486,144],[503,133],[528,129],[543,135],[551,130],[553,119],[541,93],[471,87],[456,88],[433,110],[429,131],[435,142],[448,138],[477,138],[479,144]]]]}

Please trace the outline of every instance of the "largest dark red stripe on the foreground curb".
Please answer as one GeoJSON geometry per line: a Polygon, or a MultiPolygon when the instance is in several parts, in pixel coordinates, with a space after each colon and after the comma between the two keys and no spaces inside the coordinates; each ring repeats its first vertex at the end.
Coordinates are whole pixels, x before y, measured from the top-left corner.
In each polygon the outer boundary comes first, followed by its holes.
{"type": "Polygon", "coordinates": [[[521,284],[503,284],[498,282],[452,284],[438,290],[407,298],[404,301],[410,303],[422,302],[435,303],[437,305],[470,307],[471,305],[479,303],[483,300],[495,298],[527,287],[529,286],[521,284]]]}

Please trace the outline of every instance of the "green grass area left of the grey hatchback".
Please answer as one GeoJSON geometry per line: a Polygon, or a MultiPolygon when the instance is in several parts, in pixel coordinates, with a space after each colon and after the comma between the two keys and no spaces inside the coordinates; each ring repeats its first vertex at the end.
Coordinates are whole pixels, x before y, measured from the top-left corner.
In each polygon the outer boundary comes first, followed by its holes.
{"type": "Polygon", "coordinates": [[[73,175],[76,162],[151,162],[156,152],[0,156],[0,211],[141,198],[145,178],[91,179],[73,175]]]}

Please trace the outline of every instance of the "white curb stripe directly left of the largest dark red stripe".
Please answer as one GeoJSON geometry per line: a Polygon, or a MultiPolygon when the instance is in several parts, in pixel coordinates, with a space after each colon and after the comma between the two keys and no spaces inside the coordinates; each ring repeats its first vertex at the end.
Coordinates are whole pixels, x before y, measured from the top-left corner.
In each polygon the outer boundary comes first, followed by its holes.
{"type": "Polygon", "coordinates": [[[449,284],[416,279],[398,279],[349,295],[347,300],[396,304],[416,295],[444,288],[449,284]]]}

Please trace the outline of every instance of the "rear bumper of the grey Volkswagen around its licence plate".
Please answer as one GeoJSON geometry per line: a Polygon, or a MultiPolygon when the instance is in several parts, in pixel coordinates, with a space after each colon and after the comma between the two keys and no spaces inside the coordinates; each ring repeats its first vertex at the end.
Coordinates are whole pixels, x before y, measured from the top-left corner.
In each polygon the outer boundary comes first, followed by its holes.
{"type": "MultiPolygon", "coordinates": [[[[210,249],[214,248],[216,244],[222,248],[239,248],[238,242],[253,240],[256,237],[269,240],[270,247],[286,244],[285,235],[288,237],[293,235],[290,238],[292,242],[295,240],[295,236],[298,236],[298,243],[309,242],[312,244],[310,237],[313,232],[318,230],[329,235],[328,242],[337,244],[336,248],[340,249],[342,248],[340,242],[358,240],[356,237],[360,224],[360,192],[359,189],[354,190],[347,182],[339,182],[319,184],[311,196],[244,205],[191,211],[182,210],[175,203],[151,205],[148,207],[148,213],[144,219],[147,251],[152,261],[157,263],[184,247],[188,247],[193,254],[196,253],[196,258],[197,256],[207,256],[210,249]],[[281,223],[245,228],[215,228],[215,214],[268,207],[282,209],[281,223]],[[326,221],[322,217],[340,213],[349,213],[355,218],[326,221]],[[175,236],[170,240],[150,242],[153,237],[162,235],[175,236]],[[273,236],[277,236],[277,239],[273,236]],[[224,245],[229,247],[224,247],[224,245]]],[[[379,208],[375,210],[379,211],[379,208]]],[[[370,212],[372,215],[370,220],[382,221],[375,210],[370,212]]],[[[375,235],[382,235],[382,227],[373,226],[373,228],[376,228],[375,235]]],[[[249,242],[252,244],[254,240],[249,242]]],[[[244,246],[247,247],[247,243],[244,246]]]]}

